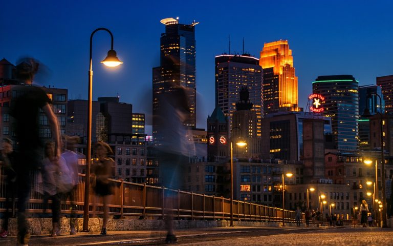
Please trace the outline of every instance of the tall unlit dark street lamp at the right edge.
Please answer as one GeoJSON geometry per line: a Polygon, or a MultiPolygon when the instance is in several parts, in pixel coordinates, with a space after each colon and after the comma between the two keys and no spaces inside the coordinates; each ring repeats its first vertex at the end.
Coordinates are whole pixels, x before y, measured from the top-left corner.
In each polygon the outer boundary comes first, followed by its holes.
{"type": "MultiPolygon", "coordinates": [[[[380,110],[379,110],[379,116],[380,116],[380,137],[381,137],[381,162],[382,162],[382,165],[381,165],[381,169],[382,169],[382,204],[383,204],[383,207],[385,207],[384,209],[382,209],[381,227],[387,227],[386,226],[386,219],[387,219],[386,208],[387,207],[386,207],[386,194],[385,194],[385,191],[386,191],[385,190],[385,153],[384,153],[384,146],[383,146],[384,142],[383,142],[382,98],[377,93],[371,93],[369,95],[370,96],[377,96],[379,98],[379,102],[381,105],[380,110]]],[[[369,118],[369,117],[372,117],[373,115],[370,114],[370,111],[368,110],[368,108],[365,108],[364,113],[361,116],[364,118],[369,118]]],[[[376,177],[377,177],[377,174],[376,174],[376,177]]],[[[376,180],[376,184],[378,187],[377,180],[376,180]]]]}

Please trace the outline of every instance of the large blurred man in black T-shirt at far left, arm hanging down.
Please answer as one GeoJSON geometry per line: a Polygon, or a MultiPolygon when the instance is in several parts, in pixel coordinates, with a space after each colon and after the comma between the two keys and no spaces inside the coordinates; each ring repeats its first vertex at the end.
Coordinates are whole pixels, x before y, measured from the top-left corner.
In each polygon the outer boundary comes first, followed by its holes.
{"type": "Polygon", "coordinates": [[[10,115],[15,119],[15,172],[18,184],[18,234],[17,243],[27,245],[30,239],[26,221],[26,203],[31,189],[30,175],[40,166],[43,144],[39,137],[40,110],[48,118],[51,136],[55,142],[54,159],[60,156],[60,138],[57,117],[50,106],[51,100],[39,87],[32,86],[39,63],[32,58],[25,58],[16,66],[15,75],[21,85],[11,100],[10,115]]]}

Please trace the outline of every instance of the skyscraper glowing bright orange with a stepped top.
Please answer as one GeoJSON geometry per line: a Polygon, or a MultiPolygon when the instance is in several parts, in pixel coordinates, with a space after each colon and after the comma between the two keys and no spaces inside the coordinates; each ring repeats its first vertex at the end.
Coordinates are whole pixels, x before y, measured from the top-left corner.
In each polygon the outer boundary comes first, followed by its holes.
{"type": "Polygon", "coordinates": [[[265,43],[259,65],[264,70],[264,113],[298,111],[297,77],[288,40],[265,43]]]}

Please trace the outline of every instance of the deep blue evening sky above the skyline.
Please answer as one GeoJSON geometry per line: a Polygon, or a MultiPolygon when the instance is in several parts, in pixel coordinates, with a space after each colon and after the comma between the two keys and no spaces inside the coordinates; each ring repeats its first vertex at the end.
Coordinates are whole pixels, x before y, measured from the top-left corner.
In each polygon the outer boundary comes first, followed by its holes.
{"type": "MultiPolygon", "coordinates": [[[[39,82],[69,89],[70,99],[88,93],[89,39],[110,29],[124,62],[116,69],[99,63],[110,36],[93,40],[93,98],[120,95],[135,112],[151,112],[151,68],[159,66],[160,19],[200,22],[197,40],[198,127],[214,109],[214,56],[245,50],[259,57],[265,42],[288,39],[305,107],[319,75],[352,74],[360,85],[393,74],[393,4],[390,1],[3,1],[0,59],[21,56],[44,63],[50,73],[39,82]],[[141,3],[142,2],[142,3],[141,3]]],[[[147,128],[149,129],[149,128],[147,128]]],[[[150,130],[151,131],[151,130],[150,130]]],[[[148,131],[148,133],[150,133],[148,131]]]]}

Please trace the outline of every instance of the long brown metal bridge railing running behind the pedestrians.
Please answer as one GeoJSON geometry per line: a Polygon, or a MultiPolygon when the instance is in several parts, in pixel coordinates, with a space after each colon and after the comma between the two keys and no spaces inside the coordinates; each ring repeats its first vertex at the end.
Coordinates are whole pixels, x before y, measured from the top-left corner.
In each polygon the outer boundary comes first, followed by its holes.
{"type": "MultiPolygon", "coordinates": [[[[94,181],[94,177],[91,178],[94,181]]],[[[92,182],[93,183],[93,182],[92,182]]],[[[79,183],[73,192],[75,213],[83,214],[85,175],[79,174],[79,183]]],[[[31,175],[31,192],[28,201],[27,212],[43,213],[43,195],[40,191],[40,180],[38,172],[31,175]]],[[[163,187],[149,186],[146,184],[131,183],[126,181],[110,179],[110,186],[114,191],[111,196],[108,210],[110,215],[138,216],[139,218],[162,218],[164,213],[175,219],[230,219],[230,199],[217,196],[209,196],[193,192],[172,190],[163,187]],[[164,201],[166,199],[166,201],[164,201]],[[166,208],[163,209],[163,204],[166,208]]],[[[0,175],[0,212],[5,211],[6,185],[0,175]]],[[[91,187],[91,190],[93,188],[91,187]]],[[[102,199],[90,194],[90,211],[96,203],[97,214],[102,214],[102,199]]],[[[48,209],[51,209],[49,201],[48,209]]],[[[14,204],[14,208],[15,208],[14,204]]],[[[48,210],[47,210],[48,211],[48,210]]],[[[50,211],[49,211],[50,212],[50,211]]],[[[69,198],[61,202],[61,213],[71,213],[71,201],[69,198]]],[[[285,210],[286,222],[295,222],[295,212],[285,210]]],[[[233,200],[233,219],[242,221],[282,221],[282,209],[268,207],[247,201],[233,200]]],[[[304,214],[301,215],[304,222],[304,214]]]]}

